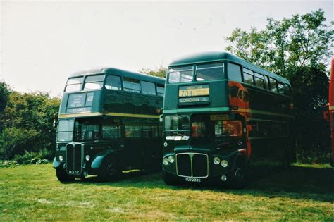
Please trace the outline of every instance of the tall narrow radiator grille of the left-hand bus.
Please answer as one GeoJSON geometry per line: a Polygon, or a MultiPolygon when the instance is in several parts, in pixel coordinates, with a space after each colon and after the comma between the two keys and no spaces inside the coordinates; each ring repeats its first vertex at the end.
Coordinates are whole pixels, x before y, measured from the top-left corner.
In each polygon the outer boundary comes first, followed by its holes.
{"type": "Polygon", "coordinates": [[[81,144],[67,144],[66,146],[67,173],[79,175],[82,166],[81,144]]]}

